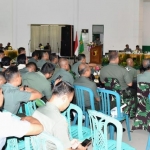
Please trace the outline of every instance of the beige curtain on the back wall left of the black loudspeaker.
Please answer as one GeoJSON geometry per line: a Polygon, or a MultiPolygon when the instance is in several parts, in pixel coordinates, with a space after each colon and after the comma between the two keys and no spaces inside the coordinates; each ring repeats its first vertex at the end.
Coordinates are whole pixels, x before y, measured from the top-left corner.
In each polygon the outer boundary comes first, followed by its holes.
{"type": "Polygon", "coordinates": [[[39,44],[51,45],[51,51],[60,52],[61,46],[61,26],[59,25],[31,25],[31,51],[39,49],[39,44]]]}

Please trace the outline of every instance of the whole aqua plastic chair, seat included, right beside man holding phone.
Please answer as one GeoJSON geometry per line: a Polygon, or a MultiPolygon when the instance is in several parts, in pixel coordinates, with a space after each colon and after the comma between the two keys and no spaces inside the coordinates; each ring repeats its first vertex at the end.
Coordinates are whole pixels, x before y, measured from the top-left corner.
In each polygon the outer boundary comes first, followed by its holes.
{"type": "Polygon", "coordinates": [[[80,107],[74,104],[70,104],[65,112],[62,113],[66,118],[69,126],[69,133],[71,139],[78,139],[79,141],[84,141],[85,139],[89,139],[91,137],[91,130],[88,127],[82,126],[82,110],[80,107]],[[77,123],[77,125],[71,124],[71,110],[76,112],[73,124],[77,123]]]}

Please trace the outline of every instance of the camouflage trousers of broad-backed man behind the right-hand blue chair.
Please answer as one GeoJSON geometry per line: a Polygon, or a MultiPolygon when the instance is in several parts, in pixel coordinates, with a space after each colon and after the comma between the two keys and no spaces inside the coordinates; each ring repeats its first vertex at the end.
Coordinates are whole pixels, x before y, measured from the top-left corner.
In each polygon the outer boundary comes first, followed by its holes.
{"type": "MultiPolygon", "coordinates": [[[[105,78],[105,88],[113,90],[120,95],[121,104],[126,104],[124,113],[129,114],[130,117],[135,116],[135,98],[132,96],[130,90],[121,90],[120,83],[115,78],[105,78]]],[[[116,101],[112,98],[111,108],[116,106],[116,101]]]]}

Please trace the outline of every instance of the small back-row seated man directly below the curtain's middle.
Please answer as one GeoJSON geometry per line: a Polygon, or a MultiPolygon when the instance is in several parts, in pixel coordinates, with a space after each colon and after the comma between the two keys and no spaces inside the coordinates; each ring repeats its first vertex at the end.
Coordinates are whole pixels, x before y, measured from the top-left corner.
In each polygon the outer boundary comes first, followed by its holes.
{"type": "Polygon", "coordinates": [[[42,52],[42,58],[37,62],[37,66],[39,69],[42,68],[42,66],[49,61],[49,54],[48,52],[42,52]]]}

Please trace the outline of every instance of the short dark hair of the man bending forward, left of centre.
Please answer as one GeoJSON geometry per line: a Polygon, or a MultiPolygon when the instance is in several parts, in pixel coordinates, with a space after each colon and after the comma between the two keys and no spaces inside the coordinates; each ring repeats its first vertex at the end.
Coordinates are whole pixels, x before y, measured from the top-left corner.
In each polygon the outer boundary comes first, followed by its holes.
{"type": "Polygon", "coordinates": [[[41,72],[43,74],[47,74],[47,73],[53,73],[55,70],[55,67],[53,64],[51,63],[45,63],[42,68],[41,68],[41,72]]]}

